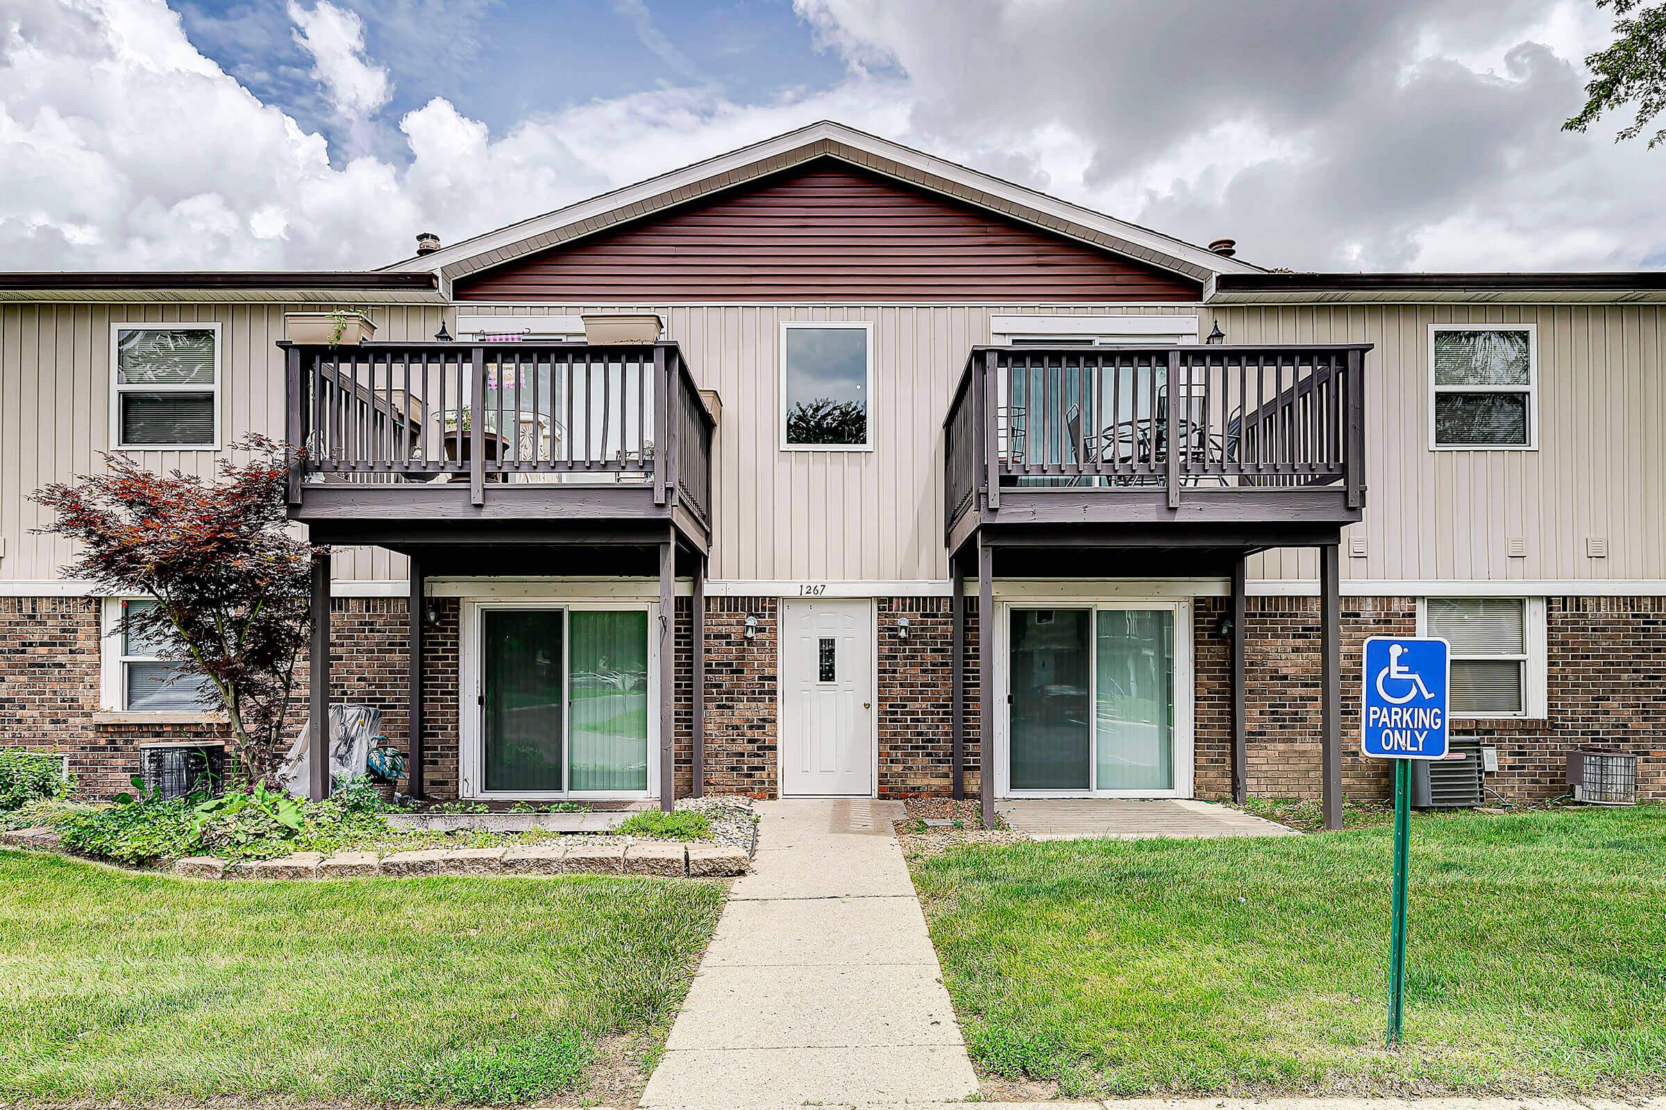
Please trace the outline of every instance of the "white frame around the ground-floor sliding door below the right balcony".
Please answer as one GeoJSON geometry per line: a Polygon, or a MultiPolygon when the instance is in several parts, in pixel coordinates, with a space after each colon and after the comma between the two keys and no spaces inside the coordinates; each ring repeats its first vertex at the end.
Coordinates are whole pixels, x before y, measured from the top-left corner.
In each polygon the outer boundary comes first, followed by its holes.
{"type": "Polygon", "coordinates": [[[996,601],[995,636],[995,797],[1196,797],[1196,679],[1193,661],[1193,606],[1191,597],[1105,597],[1093,594],[1073,594],[1063,597],[1023,597],[1013,601],[996,601]],[[1175,621],[1175,785],[1168,790],[1101,790],[1100,761],[1096,737],[1090,731],[1088,741],[1088,789],[1086,790],[1015,790],[1011,787],[1011,614],[1015,609],[1083,609],[1090,619],[1088,676],[1090,699],[1096,702],[1100,681],[1100,611],[1105,609],[1156,609],[1173,614],[1175,621]]]}

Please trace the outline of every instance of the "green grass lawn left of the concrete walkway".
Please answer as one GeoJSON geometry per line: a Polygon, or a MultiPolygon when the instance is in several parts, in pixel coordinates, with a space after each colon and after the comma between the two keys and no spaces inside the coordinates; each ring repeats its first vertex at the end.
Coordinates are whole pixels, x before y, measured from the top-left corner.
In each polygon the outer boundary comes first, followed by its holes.
{"type": "Polygon", "coordinates": [[[0,850],[0,1103],[581,1092],[658,1057],[721,905],[705,882],[210,884],[0,850]]]}

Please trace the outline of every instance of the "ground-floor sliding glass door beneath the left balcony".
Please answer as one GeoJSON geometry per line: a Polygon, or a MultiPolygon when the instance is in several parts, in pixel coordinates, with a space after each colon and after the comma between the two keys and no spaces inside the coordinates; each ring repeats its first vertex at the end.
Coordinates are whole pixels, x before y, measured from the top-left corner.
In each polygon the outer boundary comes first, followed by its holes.
{"type": "Polygon", "coordinates": [[[473,614],[465,794],[648,795],[648,607],[481,602],[473,614]]]}

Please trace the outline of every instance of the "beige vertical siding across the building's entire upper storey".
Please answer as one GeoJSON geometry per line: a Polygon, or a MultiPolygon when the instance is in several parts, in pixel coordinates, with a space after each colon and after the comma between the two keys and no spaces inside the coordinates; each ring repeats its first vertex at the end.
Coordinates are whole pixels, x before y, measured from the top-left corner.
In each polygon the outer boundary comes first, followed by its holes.
{"type": "MultiPolygon", "coordinates": [[[[7,305],[0,308],[0,579],[50,579],[67,544],[28,491],[87,473],[110,434],[110,325],[218,321],[222,436],[283,433],[283,311],[305,305],[7,305]]],[[[606,306],[461,311],[573,315],[606,306]]],[[[941,579],[943,434],[948,396],[993,315],[1196,315],[1233,343],[1368,341],[1368,556],[1353,579],[1666,577],[1666,363],[1656,306],[661,306],[695,378],[723,398],[716,458],[716,546],[723,579],[941,579]],[[778,446],[780,326],[785,320],[873,323],[871,453],[783,453],[778,446]],[[1428,449],[1428,325],[1536,323],[1538,451],[1428,449]],[[1524,557],[1508,541],[1526,541],[1524,557]],[[1606,559],[1586,557],[1604,538],[1606,559]]],[[[378,338],[420,339],[438,308],[378,306],[378,338]]],[[[451,313],[445,313],[451,320],[451,313]]],[[[453,321],[455,323],[455,321],[453,321]]],[[[455,328],[453,328],[455,330],[455,328]]],[[[212,456],[143,453],[153,468],[205,473],[212,456]]],[[[1254,577],[1316,577],[1304,551],[1258,557],[1254,577]]],[[[343,551],[350,579],[405,574],[385,551],[343,551]]]]}

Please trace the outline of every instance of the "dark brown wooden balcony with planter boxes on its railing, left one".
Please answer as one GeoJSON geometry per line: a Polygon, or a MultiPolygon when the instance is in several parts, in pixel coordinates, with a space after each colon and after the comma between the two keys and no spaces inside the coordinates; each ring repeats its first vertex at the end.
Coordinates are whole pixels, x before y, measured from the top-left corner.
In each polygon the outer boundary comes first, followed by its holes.
{"type": "Polygon", "coordinates": [[[290,516],[328,543],[675,528],[710,548],[716,421],[675,343],[282,346],[290,516]]]}

